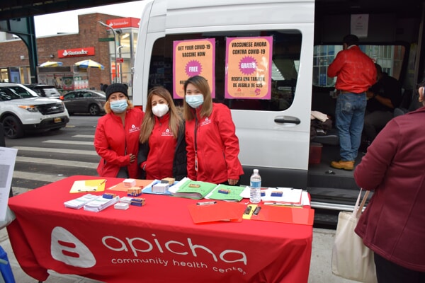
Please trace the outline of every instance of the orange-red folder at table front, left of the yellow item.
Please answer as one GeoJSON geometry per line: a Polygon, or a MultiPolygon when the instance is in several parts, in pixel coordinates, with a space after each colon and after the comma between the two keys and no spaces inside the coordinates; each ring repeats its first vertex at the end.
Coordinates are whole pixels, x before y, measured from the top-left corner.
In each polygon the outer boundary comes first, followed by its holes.
{"type": "Polygon", "coordinates": [[[245,206],[237,202],[216,202],[207,205],[190,204],[188,209],[195,224],[215,221],[240,222],[245,206]]]}

